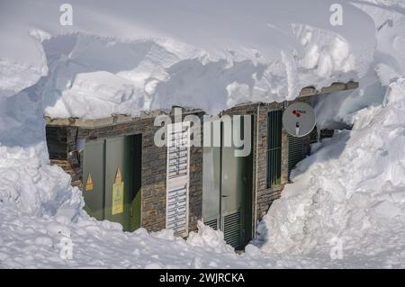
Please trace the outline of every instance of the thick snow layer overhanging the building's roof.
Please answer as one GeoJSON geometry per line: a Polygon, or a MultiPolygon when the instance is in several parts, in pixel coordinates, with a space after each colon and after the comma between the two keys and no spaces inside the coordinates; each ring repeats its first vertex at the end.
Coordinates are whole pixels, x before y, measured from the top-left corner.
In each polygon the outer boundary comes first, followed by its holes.
{"type": "Polygon", "coordinates": [[[62,3],[0,12],[0,95],[39,81],[51,117],[292,100],[362,76],[373,59],[374,23],[348,3],[333,26],[324,0],[70,1],[73,26],[61,26],[62,3]]]}

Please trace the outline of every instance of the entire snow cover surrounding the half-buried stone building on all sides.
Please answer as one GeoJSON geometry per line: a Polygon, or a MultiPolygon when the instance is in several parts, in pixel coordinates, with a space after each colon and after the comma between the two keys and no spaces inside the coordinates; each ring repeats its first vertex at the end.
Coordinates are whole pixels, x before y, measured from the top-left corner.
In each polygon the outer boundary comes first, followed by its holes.
{"type": "Polygon", "coordinates": [[[70,3],[73,27],[55,22],[60,1],[1,3],[0,267],[405,267],[403,3],[344,3],[342,27],[329,1],[70,3]],[[320,127],[353,130],[312,148],[242,256],[202,224],[183,240],[91,219],[49,166],[44,114],[216,113],[348,79],[360,89],[317,113],[320,127]]]}

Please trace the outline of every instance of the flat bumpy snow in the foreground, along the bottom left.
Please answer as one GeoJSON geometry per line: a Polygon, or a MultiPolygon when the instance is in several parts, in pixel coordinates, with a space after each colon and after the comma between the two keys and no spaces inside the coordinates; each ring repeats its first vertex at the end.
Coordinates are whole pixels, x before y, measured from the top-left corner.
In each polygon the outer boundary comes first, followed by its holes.
{"type": "MultiPolygon", "coordinates": [[[[212,252],[193,246],[173,231],[122,232],[121,226],[85,215],[30,217],[2,212],[1,268],[249,268],[243,256],[228,248],[212,252]],[[71,247],[71,257],[66,253],[71,247]]],[[[194,239],[197,235],[194,236],[194,239]]],[[[208,238],[207,238],[208,239],[208,238]]],[[[201,239],[200,242],[204,241],[201,239]]],[[[208,240],[205,239],[208,242],[208,240]]],[[[274,262],[264,265],[275,265],[274,262]]]]}

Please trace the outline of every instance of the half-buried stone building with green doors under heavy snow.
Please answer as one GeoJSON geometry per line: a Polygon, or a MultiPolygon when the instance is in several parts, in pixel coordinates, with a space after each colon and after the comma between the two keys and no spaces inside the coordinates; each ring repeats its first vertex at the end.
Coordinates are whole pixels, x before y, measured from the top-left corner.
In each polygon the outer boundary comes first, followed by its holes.
{"type": "MultiPolygon", "coordinates": [[[[356,82],[335,83],[320,91],[306,87],[293,102],[311,103],[318,94],[357,86],[356,82]]],[[[244,247],[254,238],[258,220],[279,198],[293,166],[309,153],[311,140],[317,139],[316,130],[303,138],[285,132],[283,111],[293,102],[238,104],[220,113],[221,119],[224,115],[250,117],[247,157],[235,157],[234,145],[224,147],[224,121],[220,130],[211,130],[211,136],[220,133],[220,147],[158,147],[155,137],[161,126],[155,120],[162,114],[174,118],[175,108],[137,117],[47,118],[49,157],[72,176],[72,184],[83,191],[85,210],[97,220],[120,222],[128,231],[174,229],[181,237],[203,220],[221,229],[233,247],[244,247]]],[[[202,122],[204,114],[182,108],[183,120],[194,115],[202,122]]],[[[173,134],[187,140],[192,133],[207,136],[202,126],[186,124],[176,129],[173,134]]]]}

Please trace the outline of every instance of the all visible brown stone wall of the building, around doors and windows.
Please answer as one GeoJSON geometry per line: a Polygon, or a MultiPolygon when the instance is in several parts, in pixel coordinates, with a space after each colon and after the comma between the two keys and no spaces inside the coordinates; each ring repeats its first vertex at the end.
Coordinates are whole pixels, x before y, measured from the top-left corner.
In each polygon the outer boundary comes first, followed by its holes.
{"type": "MultiPolygon", "coordinates": [[[[299,99],[309,102],[309,98],[299,99]]],[[[267,188],[267,115],[283,110],[284,103],[249,103],[238,105],[221,114],[252,115],[253,152],[253,226],[266,214],[272,202],[280,197],[284,184],[288,182],[288,135],[282,131],[281,183],[267,188]],[[257,107],[259,113],[257,114],[257,107]],[[258,129],[257,129],[258,127],[258,129]],[[258,134],[257,134],[258,132],[258,134]],[[258,140],[258,141],[257,141],[258,140]]],[[[203,112],[184,111],[197,115],[201,122],[203,112]]],[[[108,124],[102,127],[71,125],[47,126],[47,142],[52,164],[61,166],[72,176],[72,184],[82,188],[83,151],[78,151],[78,139],[106,139],[117,136],[142,134],[142,194],[141,226],[150,231],[166,227],[166,147],[158,148],[154,135],[159,127],[154,126],[154,117],[133,118],[127,122],[108,124]]],[[[199,130],[202,135],[202,130],[199,130]]],[[[306,147],[309,148],[310,140],[306,147]]],[[[305,142],[307,142],[305,141],[305,142]]],[[[189,230],[197,229],[197,220],[202,219],[202,148],[192,147],[190,155],[189,230]]]]}

